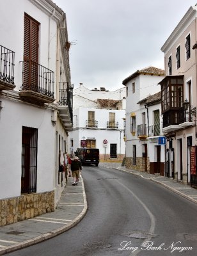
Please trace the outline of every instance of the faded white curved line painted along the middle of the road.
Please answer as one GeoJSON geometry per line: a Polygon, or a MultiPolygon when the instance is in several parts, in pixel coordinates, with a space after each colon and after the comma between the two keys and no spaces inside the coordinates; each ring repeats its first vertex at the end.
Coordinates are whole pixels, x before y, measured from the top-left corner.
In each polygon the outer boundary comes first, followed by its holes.
{"type": "MultiPolygon", "coordinates": [[[[134,194],[129,188],[127,188],[124,184],[122,184],[118,180],[116,180],[116,182],[118,182],[121,186],[123,186],[123,188],[127,189],[127,191],[129,191],[129,193],[131,193],[132,196],[134,196],[134,198],[136,198],[136,200],[138,200],[138,202],[145,208],[145,211],[148,213],[148,215],[150,217],[150,230],[149,230],[148,233],[154,234],[154,230],[155,230],[155,216],[154,216],[154,214],[152,214],[152,212],[148,209],[148,207],[146,207],[146,205],[139,199],[139,197],[136,196],[136,194],[134,194]]],[[[146,238],[143,241],[143,243],[145,243],[146,241],[150,241],[150,237],[146,238]]],[[[143,243],[141,243],[141,246],[142,246],[143,243]]],[[[139,252],[141,252],[140,249],[136,250],[135,252],[132,252],[129,256],[136,256],[139,252]]]]}

